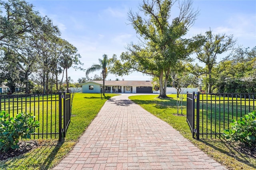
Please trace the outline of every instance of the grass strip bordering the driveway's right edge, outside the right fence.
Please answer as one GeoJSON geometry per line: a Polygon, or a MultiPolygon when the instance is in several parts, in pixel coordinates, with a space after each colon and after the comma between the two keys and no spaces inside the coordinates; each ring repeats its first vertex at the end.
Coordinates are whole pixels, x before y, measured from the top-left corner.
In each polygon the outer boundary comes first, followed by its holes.
{"type": "MultiPolygon", "coordinates": [[[[188,138],[198,148],[214,158],[220,164],[230,170],[253,170],[256,169],[256,159],[236,150],[232,143],[223,139],[200,139],[192,138],[190,128],[186,122],[186,107],[183,108],[183,115],[176,115],[176,94],[168,95],[172,99],[158,99],[158,95],[135,95],[129,99],[140,105],[142,108],[162,119],[185,138],[188,138]]],[[[186,98],[183,106],[186,106],[186,98]]]]}

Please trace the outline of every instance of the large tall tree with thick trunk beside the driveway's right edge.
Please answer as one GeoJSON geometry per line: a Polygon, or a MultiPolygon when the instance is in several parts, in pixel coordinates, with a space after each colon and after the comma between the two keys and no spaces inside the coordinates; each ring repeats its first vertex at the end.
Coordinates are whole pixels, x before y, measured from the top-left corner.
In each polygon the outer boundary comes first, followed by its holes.
{"type": "Polygon", "coordinates": [[[128,21],[136,30],[140,42],[128,45],[120,61],[114,58],[111,72],[117,75],[139,71],[152,77],[158,77],[159,97],[166,96],[166,86],[170,69],[180,59],[186,59],[192,52],[190,40],[182,39],[198,15],[192,8],[192,1],[143,0],[139,10],[144,16],[132,10],[128,21]],[[171,18],[174,4],[180,10],[176,18],[171,18]]]}

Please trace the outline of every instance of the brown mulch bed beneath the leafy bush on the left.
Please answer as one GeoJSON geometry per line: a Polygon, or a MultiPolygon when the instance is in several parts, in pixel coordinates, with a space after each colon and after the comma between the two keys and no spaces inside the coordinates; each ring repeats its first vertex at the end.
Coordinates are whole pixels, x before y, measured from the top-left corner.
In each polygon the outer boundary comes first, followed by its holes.
{"type": "Polygon", "coordinates": [[[0,154],[0,160],[6,160],[8,158],[13,158],[16,156],[19,156],[21,154],[25,154],[29,152],[32,149],[38,148],[42,145],[43,142],[40,142],[38,140],[26,140],[26,141],[20,141],[18,142],[20,148],[18,149],[10,149],[7,152],[2,152],[0,154]]]}

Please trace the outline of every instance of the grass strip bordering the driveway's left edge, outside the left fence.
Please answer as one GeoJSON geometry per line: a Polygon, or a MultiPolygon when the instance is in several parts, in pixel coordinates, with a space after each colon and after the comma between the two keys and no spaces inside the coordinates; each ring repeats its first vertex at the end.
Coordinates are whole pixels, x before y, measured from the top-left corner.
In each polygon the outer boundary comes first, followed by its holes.
{"type": "Polygon", "coordinates": [[[0,169],[7,170],[46,170],[53,168],[72,149],[84,130],[98,114],[106,100],[116,94],[84,94],[76,93],[73,100],[72,117],[66,138],[39,139],[42,145],[24,155],[9,158],[0,162],[0,169]]]}

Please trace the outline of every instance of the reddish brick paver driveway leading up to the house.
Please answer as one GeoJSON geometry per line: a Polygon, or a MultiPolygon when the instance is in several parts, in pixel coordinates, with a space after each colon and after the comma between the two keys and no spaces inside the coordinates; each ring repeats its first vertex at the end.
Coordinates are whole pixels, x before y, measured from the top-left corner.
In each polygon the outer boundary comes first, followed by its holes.
{"type": "Polygon", "coordinates": [[[54,169],[226,169],[128,96],[106,101],[54,169]]]}

